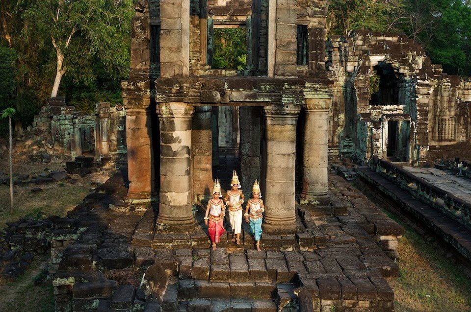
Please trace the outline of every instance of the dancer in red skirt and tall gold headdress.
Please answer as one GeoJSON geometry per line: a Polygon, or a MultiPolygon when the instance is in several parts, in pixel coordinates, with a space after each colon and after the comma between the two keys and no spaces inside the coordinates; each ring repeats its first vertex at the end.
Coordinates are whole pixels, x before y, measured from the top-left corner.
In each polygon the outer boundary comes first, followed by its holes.
{"type": "Polygon", "coordinates": [[[226,206],[221,197],[221,184],[219,180],[214,180],[212,198],[208,201],[205,214],[205,224],[208,225],[208,234],[213,250],[216,250],[216,243],[219,242],[219,238],[225,232],[223,222],[224,215],[226,214],[226,206]]]}

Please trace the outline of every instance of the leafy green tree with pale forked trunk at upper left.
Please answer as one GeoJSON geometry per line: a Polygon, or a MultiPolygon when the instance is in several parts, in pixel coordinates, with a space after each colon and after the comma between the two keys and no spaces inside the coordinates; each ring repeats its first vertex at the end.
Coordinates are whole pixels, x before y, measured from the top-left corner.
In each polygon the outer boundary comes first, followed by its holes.
{"type": "Polygon", "coordinates": [[[133,12],[132,0],[32,1],[25,21],[49,36],[56,56],[51,97],[66,72],[89,78],[94,56],[109,72],[129,71],[133,12]]]}

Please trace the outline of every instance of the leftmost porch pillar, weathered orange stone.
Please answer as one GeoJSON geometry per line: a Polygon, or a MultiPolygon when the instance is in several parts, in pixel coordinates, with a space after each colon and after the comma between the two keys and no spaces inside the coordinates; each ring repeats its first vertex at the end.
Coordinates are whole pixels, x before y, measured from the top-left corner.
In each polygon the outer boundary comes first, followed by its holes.
{"type": "Polygon", "coordinates": [[[155,174],[152,152],[151,112],[144,108],[126,110],[128,147],[128,198],[150,200],[155,197],[155,174]]]}

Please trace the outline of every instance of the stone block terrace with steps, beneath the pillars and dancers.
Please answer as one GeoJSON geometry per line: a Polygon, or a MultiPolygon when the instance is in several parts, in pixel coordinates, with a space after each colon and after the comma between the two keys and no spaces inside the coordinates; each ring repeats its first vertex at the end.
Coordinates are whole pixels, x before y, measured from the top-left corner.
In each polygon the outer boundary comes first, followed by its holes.
{"type": "MultiPolygon", "coordinates": [[[[197,207],[188,234],[155,230],[126,206],[123,176],[88,195],[52,233],[56,311],[393,311],[400,226],[339,176],[331,205],[298,206],[296,235],[243,231],[209,249],[197,207]],[[77,236],[77,234],[79,234],[77,236]]],[[[226,222],[228,223],[228,222],[226,222]]]]}

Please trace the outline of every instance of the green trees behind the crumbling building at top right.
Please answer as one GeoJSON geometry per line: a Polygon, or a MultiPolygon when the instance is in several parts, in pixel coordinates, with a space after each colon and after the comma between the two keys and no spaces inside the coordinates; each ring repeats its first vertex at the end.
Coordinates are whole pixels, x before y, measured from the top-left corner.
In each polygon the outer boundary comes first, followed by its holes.
{"type": "Polygon", "coordinates": [[[331,0],[328,35],[404,33],[448,74],[471,75],[471,4],[463,0],[331,0]]]}

